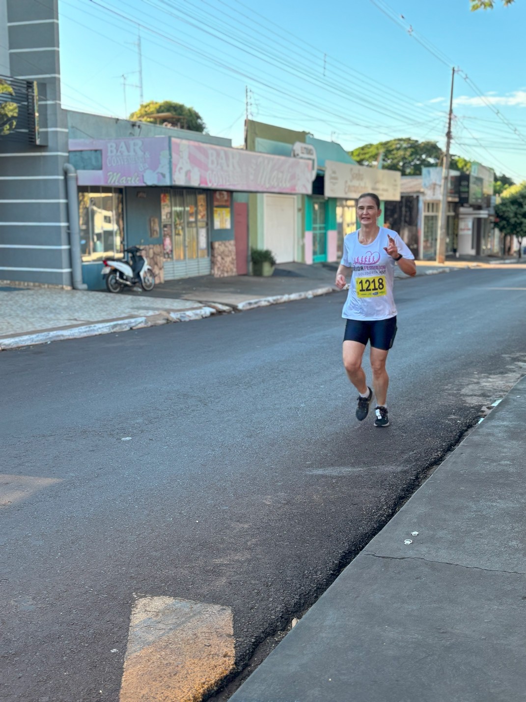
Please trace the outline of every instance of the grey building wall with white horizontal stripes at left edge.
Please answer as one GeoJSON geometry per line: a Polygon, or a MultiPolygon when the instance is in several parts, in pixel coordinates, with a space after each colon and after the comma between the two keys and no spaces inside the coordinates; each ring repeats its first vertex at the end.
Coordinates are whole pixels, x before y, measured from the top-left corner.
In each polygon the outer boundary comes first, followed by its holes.
{"type": "Polygon", "coordinates": [[[72,284],[63,166],[68,159],[60,105],[58,0],[3,0],[10,74],[38,81],[42,142],[29,133],[0,140],[0,279],[72,284]]]}

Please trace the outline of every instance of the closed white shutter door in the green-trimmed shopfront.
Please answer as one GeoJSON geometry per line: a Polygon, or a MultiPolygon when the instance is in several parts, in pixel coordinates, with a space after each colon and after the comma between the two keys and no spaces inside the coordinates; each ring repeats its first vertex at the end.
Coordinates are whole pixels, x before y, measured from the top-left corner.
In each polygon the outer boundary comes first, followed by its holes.
{"type": "Polygon", "coordinates": [[[290,263],[295,258],[295,196],[265,195],[264,218],[264,248],[274,253],[277,263],[290,263]]]}

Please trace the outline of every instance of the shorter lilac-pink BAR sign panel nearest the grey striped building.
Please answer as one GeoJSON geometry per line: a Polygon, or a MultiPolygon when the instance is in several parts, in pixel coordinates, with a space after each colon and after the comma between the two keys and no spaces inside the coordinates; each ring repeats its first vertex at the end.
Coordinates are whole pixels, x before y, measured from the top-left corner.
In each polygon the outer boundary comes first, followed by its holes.
{"type": "MultiPolygon", "coordinates": [[[[102,169],[77,168],[79,185],[170,185],[166,137],[70,139],[69,151],[100,151],[102,169]]],[[[86,154],[90,165],[90,154],[86,154]]]]}

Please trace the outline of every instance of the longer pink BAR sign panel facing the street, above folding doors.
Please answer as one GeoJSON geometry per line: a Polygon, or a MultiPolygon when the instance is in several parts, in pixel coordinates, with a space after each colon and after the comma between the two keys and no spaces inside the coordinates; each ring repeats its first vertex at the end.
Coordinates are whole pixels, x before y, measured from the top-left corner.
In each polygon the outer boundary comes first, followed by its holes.
{"type": "Polygon", "coordinates": [[[311,161],[172,138],[173,185],[311,194],[311,161]]]}

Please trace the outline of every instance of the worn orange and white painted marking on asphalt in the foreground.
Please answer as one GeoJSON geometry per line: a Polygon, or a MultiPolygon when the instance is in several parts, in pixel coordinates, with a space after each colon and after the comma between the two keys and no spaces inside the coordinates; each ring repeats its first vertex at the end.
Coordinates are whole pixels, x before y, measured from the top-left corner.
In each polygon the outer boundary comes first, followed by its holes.
{"type": "Polygon", "coordinates": [[[234,668],[229,607],[140,597],[130,618],[119,702],[199,702],[234,668]]]}

